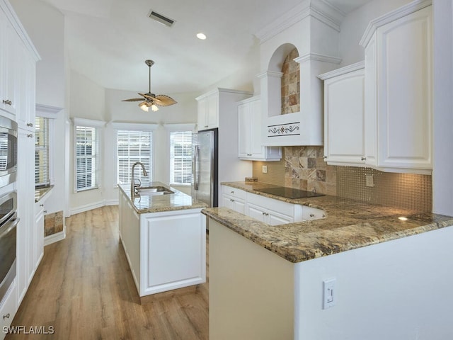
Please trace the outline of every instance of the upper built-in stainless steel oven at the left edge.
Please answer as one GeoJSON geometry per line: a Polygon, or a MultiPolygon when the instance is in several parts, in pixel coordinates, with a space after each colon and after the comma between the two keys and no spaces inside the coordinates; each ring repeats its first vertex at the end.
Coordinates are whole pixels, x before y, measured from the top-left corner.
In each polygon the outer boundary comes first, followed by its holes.
{"type": "Polygon", "coordinates": [[[16,181],[17,123],[0,116],[0,188],[16,181]]]}

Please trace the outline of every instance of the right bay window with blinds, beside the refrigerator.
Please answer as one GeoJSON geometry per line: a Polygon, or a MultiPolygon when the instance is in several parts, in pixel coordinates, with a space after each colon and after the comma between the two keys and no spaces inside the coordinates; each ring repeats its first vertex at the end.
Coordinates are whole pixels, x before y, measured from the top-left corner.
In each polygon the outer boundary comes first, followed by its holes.
{"type": "Polygon", "coordinates": [[[192,181],[192,132],[170,132],[170,183],[192,181]]]}

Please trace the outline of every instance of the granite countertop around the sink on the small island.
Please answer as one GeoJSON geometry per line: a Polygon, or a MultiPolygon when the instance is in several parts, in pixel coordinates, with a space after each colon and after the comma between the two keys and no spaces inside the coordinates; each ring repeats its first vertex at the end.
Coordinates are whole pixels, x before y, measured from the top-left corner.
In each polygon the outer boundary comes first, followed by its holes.
{"type": "MultiPolygon", "coordinates": [[[[166,195],[141,195],[134,196],[133,207],[139,214],[145,214],[147,212],[163,212],[171,210],[183,210],[183,209],[195,209],[195,208],[206,208],[207,205],[200,200],[195,200],[191,196],[178,191],[177,189],[168,186],[161,182],[142,183],[142,187],[146,188],[149,186],[164,186],[169,190],[173,191],[172,194],[166,195]]],[[[123,186],[118,184],[120,190],[125,193],[127,198],[130,197],[130,186],[123,186]]]]}

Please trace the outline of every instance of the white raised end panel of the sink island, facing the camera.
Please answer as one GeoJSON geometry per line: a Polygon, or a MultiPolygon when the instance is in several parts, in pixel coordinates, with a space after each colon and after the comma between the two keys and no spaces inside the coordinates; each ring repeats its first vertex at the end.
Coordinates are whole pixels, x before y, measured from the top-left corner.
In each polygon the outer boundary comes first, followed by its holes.
{"type": "Polygon", "coordinates": [[[199,209],[142,215],[140,295],[205,282],[205,220],[199,209]]]}

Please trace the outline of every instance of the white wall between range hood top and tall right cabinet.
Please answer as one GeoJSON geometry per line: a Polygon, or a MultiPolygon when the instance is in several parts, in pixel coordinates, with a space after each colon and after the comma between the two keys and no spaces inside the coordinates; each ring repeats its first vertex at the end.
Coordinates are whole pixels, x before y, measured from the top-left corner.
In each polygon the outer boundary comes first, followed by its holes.
{"type": "Polygon", "coordinates": [[[369,21],[409,2],[411,0],[374,0],[349,13],[340,26],[340,67],[365,60],[365,50],[359,42],[369,21]]]}

